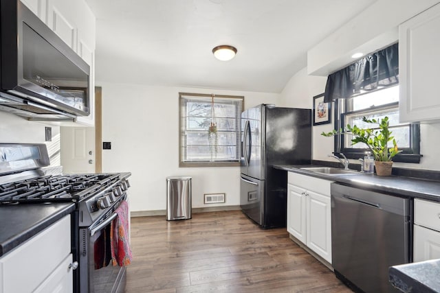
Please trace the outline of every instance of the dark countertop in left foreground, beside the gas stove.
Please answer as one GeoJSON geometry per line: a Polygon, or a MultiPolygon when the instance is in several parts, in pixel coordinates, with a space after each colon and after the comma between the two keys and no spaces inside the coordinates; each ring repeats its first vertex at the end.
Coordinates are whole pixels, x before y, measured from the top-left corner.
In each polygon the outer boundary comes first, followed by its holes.
{"type": "Polygon", "coordinates": [[[70,202],[0,205],[0,257],[74,209],[70,202]]]}

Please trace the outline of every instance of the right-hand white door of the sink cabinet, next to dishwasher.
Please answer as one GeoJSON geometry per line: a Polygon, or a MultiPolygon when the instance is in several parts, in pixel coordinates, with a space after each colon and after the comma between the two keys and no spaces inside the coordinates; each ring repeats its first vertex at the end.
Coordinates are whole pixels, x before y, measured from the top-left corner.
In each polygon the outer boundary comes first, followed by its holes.
{"type": "Polygon", "coordinates": [[[307,191],[307,246],[331,263],[331,205],[329,196],[307,191]]]}

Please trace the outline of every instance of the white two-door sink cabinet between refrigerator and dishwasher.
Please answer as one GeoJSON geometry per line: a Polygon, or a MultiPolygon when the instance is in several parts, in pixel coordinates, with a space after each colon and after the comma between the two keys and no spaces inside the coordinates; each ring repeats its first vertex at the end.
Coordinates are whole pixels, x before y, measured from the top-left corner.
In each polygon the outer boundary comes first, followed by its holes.
{"type": "Polygon", "coordinates": [[[331,263],[329,180],[289,172],[287,231],[331,263]]]}

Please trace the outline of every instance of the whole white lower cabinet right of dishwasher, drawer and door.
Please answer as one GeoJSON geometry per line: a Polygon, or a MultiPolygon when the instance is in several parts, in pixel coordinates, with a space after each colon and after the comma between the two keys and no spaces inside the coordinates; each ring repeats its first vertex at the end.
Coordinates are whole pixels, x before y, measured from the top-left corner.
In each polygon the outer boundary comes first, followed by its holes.
{"type": "Polygon", "coordinates": [[[414,261],[440,259],[440,203],[414,200],[414,261]]]}

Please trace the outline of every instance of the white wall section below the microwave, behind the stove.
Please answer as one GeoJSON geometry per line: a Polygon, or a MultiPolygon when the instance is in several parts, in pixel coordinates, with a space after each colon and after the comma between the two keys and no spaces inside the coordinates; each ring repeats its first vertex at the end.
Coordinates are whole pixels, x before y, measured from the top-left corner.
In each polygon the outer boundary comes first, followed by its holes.
{"type": "Polygon", "coordinates": [[[28,121],[0,111],[0,143],[45,143],[51,166],[61,165],[59,126],[28,121]],[[52,141],[45,141],[45,126],[52,127],[52,141]]]}

